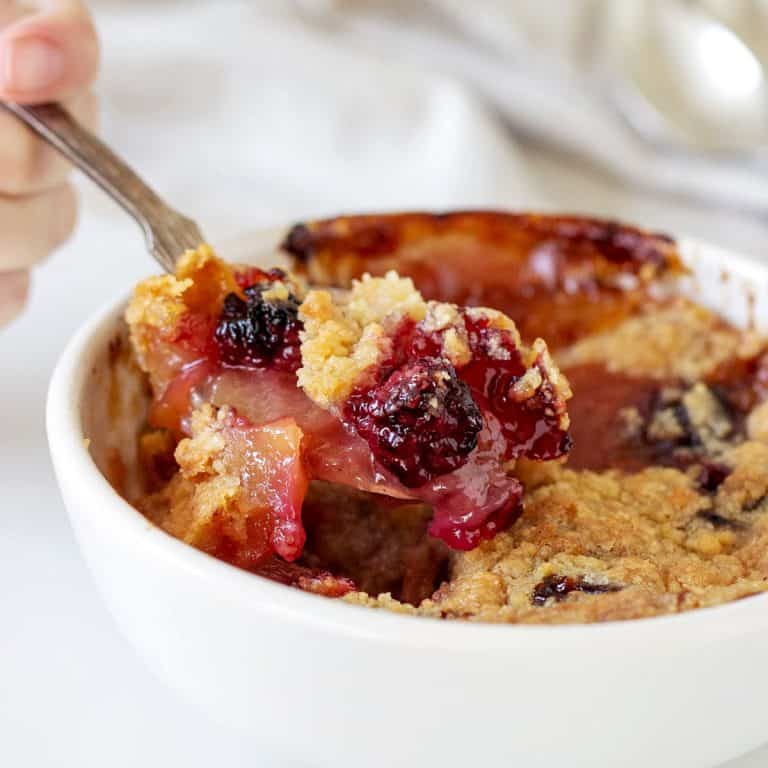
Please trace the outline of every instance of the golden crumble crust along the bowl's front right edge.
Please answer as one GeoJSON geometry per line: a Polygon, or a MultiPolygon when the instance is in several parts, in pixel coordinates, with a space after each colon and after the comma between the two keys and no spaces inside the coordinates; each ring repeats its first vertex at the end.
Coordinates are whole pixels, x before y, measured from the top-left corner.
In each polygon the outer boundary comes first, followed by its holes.
{"type": "MultiPolygon", "coordinates": [[[[744,443],[725,460],[734,469],[714,497],[675,469],[560,468],[528,493],[515,526],[458,554],[450,581],[415,611],[404,610],[473,621],[588,623],[768,591],[768,446],[744,443]],[[564,578],[587,591],[546,597],[545,590],[536,600],[548,579],[564,578]]],[[[389,596],[347,599],[393,606],[389,596]]]]}

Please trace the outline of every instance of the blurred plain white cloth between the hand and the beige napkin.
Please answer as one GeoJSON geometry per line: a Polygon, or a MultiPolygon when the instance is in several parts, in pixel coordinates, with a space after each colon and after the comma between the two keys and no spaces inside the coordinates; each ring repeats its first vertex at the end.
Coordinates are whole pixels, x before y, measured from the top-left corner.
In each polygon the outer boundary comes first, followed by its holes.
{"type": "Polygon", "coordinates": [[[340,46],[285,4],[96,11],[105,135],[217,231],[342,210],[541,202],[469,90],[340,46]]]}

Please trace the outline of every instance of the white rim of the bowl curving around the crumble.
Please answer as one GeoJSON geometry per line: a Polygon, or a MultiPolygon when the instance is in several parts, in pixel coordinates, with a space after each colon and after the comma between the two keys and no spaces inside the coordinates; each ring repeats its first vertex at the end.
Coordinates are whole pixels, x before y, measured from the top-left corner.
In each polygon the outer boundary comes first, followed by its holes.
{"type": "MultiPolygon", "coordinates": [[[[679,240],[681,252],[695,258],[728,263],[730,275],[768,278],[768,264],[702,241],[679,240]]],[[[148,521],[108,483],[91,458],[81,425],[82,393],[94,360],[114,336],[127,299],[112,300],[92,315],[75,333],[62,352],[48,389],[46,428],[49,449],[61,488],[62,478],[77,478],[84,503],[66,504],[73,524],[79,516],[109,526],[111,535],[161,558],[170,568],[192,571],[196,587],[205,585],[219,599],[240,596],[250,611],[297,624],[315,625],[326,631],[413,648],[443,648],[471,651],[483,648],[519,647],[591,649],[599,646],[626,648],[670,642],[684,647],[724,636],[768,629],[768,593],[681,614],[594,624],[494,624],[444,621],[350,605],[322,598],[247,572],[179,541],[148,521]],[[109,510],[110,515],[104,513],[109,510]],[[96,519],[98,511],[100,519],[96,519]],[[717,633],[713,634],[713,625],[717,633]],[[703,635],[702,632],[708,634],[703,635]]],[[[75,527],[77,527],[75,525],[75,527]]],[[[191,584],[190,580],[190,584],[191,584]]]]}

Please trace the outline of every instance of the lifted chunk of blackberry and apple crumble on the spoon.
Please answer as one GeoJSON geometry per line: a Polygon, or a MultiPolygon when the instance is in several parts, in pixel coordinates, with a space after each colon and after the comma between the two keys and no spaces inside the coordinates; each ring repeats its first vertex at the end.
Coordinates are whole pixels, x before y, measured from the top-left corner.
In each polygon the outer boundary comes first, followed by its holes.
{"type": "Polygon", "coordinates": [[[312,481],[427,503],[430,534],[471,549],[520,514],[514,462],[570,447],[570,389],[542,340],[394,272],[311,290],[202,247],[141,283],[126,318],[150,426],[179,441],[164,493],[184,503],[159,522],[231,561],[295,561],[312,481]]]}

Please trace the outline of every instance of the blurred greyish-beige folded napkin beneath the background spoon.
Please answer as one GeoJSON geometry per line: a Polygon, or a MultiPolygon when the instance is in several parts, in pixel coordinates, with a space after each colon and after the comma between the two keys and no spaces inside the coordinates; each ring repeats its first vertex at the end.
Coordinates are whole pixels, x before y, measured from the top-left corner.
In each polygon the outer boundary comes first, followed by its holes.
{"type": "MultiPolygon", "coordinates": [[[[594,28],[606,17],[608,2],[301,0],[299,5],[341,44],[396,52],[401,63],[453,75],[518,133],[589,158],[630,184],[768,212],[766,166],[660,150],[620,118],[587,63],[600,57],[592,50],[601,47],[594,28]]],[[[768,12],[760,21],[758,28],[768,35],[768,12]]],[[[607,59],[602,66],[614,63],[607,59]]]]}

